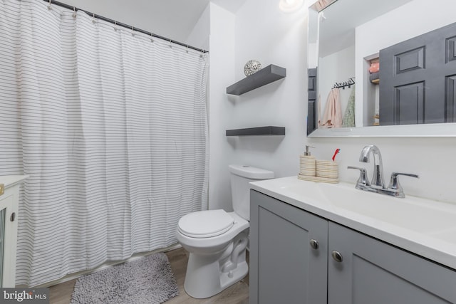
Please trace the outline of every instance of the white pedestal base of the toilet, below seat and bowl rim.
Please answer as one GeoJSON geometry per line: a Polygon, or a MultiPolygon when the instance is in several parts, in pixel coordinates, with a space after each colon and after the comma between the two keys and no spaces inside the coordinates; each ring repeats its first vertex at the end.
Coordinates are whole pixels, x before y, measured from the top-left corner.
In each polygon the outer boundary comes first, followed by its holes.
{"type": "Polygon", "coordinates": [[[190,253],[184,289],[192,298],[209,298],[241,281],[249,272],[245,261],[247,235],[239,234],[227,248],[214,255],[190,253]]]}

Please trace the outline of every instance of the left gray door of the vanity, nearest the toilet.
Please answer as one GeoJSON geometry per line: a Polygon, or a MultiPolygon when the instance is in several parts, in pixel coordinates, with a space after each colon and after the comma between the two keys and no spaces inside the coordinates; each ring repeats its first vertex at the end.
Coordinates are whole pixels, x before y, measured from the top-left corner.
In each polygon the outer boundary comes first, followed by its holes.
{"type": "Polygon", "coordinates": [[[254,190],[250,206],[249,303],[326,303],[328,221],[254,190]]]}

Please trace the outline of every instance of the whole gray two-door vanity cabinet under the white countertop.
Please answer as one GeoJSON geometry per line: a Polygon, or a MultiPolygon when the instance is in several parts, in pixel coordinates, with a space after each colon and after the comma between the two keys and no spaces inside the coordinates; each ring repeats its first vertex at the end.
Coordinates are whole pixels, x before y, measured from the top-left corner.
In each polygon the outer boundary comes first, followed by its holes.
{"type": "Polygon", "coordinates": [[[453,269],[254,190],[250,204],[251,304],[456,303],[453,269]]]}

